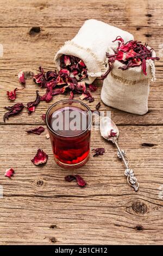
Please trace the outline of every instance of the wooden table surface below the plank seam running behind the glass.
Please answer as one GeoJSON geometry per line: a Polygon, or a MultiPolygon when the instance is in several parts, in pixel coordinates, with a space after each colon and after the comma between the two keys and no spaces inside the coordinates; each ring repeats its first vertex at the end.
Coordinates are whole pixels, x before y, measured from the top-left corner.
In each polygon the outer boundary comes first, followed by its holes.
{"type": "Polygon", "coordinates": [[[143,244],[144,239],[147,244],[162,243],[162,126],[143,130],[141,126],[120,127],[119,143],[127,149],[131,167],[140,180],[137,193],[127,186],[115,148],[99,136],[99,131],[92,131],[91,148],[105,147],[105,155],[91,154],[84,167],[71,171],[87,181],[87,186],[80,188],[76,182],[64,180],[70,172],[55,164],[46,132],[28,135],[28,129],[29,125],[15,125],[14,129],[9,125],[5,131],[1,127],[0,143],[5,145],[5,151],[3,148],[0,152],[2,243],[48,244],[51,238],[56,244],[143,244]],[[10,135],[10,141],[3,137],[4,132],[10,135]],[[143,147],[143,143],[153,147],[143,147]],[[49,155],[44,167],[30,161],[37,147],[49,155]],[[3,177],[9,163],[16,172],[11,180],[3,177]]]}

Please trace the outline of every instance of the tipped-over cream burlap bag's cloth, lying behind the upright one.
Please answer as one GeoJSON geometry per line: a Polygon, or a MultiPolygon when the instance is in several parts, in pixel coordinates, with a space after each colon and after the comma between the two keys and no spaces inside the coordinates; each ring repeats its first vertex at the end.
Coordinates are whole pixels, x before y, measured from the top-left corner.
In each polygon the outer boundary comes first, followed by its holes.
{"type": "Polygon", "coordinates": [[[85,21],[77,35],[71,41],[66,41],[55,55],[57,68],[60,70],[62,54],[76,56],[82,59],[87,67],[88,77],[83,81],[92,83],[105,72],[106,51],[108,46],[115,45],[112,41],[118,35],[122,36],[125,42],[134,39],[130,33],[102,21],[85,21]]]}

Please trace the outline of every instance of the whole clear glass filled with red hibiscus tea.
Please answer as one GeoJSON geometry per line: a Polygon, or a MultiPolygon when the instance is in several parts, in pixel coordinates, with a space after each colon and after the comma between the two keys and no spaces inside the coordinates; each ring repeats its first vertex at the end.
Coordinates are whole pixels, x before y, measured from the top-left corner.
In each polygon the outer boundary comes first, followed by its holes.
{"type": "Polygon", "coordinates": [[[92,112],[79,100],[61,100],[46,113],[54,160],[64,168],[83,166],[89,158],[92,112]]]}

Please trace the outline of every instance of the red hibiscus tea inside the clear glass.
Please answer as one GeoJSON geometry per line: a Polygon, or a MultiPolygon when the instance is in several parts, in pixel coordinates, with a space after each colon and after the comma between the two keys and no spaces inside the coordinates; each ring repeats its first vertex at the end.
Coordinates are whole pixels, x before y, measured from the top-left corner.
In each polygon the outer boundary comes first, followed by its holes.
{"type": "Polygon", "coordinates": [[[57,163],[67,167],[81,163],[82,166],[90,152],[91,120],[87,111],[77,107],[60,108],[51,115],[49,124],[55,132],[49,134],[57,163]]]}

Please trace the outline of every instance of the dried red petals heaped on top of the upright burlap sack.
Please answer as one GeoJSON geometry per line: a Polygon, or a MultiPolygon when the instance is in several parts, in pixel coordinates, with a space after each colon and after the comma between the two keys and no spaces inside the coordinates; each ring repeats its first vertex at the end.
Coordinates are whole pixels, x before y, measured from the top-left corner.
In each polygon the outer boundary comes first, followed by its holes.
{"type": "Polygon", "coordinates": [[[106,53],[106,57],[108,58],[109,69],[106,71],[104,75],[102,75],[102,79],[105,79],[109,72],[112,69],[112,63],[115,60],[119,60],[124,66],[120,66],[119,69],[126,70],[129,68],[134,68],[135,66],[140,66],[142,68],[143,74],[147,75],[146,72],[146,60],[147,59],[156,59],[159,60],[159,57],[152,57],[152,48],[148,49],[147,44],[142,45],[140,41],[131,40],[124,44],[124,40],[121,36],[117,36],[117,38],[112,41],[118,41],[118,47],[114,51],[115,54],[106,53]]]}

